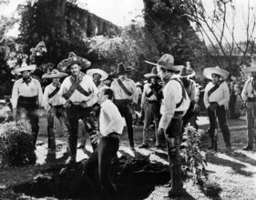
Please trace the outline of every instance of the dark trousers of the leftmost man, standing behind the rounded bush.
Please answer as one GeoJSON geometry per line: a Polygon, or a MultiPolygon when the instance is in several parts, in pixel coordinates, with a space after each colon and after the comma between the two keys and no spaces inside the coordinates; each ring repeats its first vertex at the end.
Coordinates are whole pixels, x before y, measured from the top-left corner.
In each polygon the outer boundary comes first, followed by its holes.
{"type": "Polygon", "coordinates": [[[28,119],[32,129],[33,143],[36,146],[39,131],[38,105],[17,103],[17,120],[28,119]]]}

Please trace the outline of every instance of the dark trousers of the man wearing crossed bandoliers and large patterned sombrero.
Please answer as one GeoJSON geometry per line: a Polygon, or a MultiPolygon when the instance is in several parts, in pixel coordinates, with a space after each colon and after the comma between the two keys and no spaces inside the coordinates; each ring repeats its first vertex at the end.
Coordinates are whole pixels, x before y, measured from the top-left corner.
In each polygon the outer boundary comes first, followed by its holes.
{"type": "Polygon", "coordinates": [[[68,143],[70,147],[71,157],[77,157],[77,135],[78,135],[78,120],[81,119],[85,124],[87,133],[90,134],[92,127],[87,123],[89,113],[92,111],[92,107],[82,108],[80,105],[71,105],[66,108],[67,114],[67,129],[68,129],[68,143]]]}

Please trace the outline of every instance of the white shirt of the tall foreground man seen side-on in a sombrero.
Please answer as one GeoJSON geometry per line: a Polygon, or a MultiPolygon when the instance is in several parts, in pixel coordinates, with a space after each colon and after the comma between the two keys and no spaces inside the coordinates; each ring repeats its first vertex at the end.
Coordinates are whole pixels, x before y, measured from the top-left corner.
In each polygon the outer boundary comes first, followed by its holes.
{"type": "MultiPolygon", "coordinates": [[[[167,129],[169,123],[176,111],[184,111],[184,115],[189,108],[189,96],[186,92],[186,98],[183,99],[182,104],[176,108],[182,98],[182,87],[178,81],[172,80],[176,76],[172,76],[163,88],[164,98],[160,108],[161,119],[159,122],[159,128],[167,129]]],[[[177,77],[176,77],[177,78],[177,77]]]]}

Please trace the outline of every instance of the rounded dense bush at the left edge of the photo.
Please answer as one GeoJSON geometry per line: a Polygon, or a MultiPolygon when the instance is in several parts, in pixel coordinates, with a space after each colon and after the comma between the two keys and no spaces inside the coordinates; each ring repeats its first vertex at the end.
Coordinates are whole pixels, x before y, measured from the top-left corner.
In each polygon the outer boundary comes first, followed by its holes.
{"type": "Polygon", "coordinates": [[[36,163],[33,136],[21,125],[5,123],[0,126],[0,165],[31,165],[36,163]]]}

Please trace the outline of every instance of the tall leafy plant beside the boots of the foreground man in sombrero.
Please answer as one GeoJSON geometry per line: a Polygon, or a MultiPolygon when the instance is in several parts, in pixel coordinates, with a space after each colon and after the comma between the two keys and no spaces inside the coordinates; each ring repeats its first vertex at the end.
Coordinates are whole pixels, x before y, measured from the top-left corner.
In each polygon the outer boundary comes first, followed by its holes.
{"type": "Polygon", "coordinates": [[[196,130],[193,126],[188,125],[182,136],[180,155],[185,158],[188,164],[188,171],[193,176],[196,184],[202,185],[207,175],[205,173],[206,153],[200,150],[200,138],[203,130],[196,130]]]}

